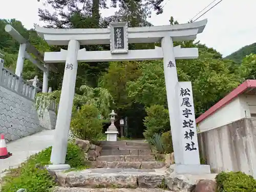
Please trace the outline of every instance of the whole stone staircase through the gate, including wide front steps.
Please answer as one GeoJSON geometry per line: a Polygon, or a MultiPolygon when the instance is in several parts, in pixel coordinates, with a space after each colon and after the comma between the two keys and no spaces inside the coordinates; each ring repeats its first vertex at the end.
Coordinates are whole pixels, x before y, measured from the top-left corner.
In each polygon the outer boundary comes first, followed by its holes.
{"type": "Polygon", "coordinates": [[[133,141],[101,141],[93,168],[56,173],[55,192],[164,192],[166,169],[150,145],[133,141]]]}

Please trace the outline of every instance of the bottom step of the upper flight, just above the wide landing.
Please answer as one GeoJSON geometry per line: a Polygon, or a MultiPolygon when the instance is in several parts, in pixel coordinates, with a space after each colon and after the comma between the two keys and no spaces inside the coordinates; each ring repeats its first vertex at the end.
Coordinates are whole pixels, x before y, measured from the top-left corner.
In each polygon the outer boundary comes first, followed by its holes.
{"type": "Polygon", "coordinates": [[[165,166],[164,162],[160,161],[92,161],[91,166],[97,168],[135,168],[135,169],[154,169],[154,168],[162,168],[165,166]]]}

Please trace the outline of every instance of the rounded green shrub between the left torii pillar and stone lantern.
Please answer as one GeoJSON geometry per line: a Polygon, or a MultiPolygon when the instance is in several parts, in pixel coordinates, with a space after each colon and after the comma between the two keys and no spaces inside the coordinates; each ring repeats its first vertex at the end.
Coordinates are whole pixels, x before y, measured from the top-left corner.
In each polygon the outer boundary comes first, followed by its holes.
{"type": "Polygon", "coordinates": [[[93,105],[83,105],[72,117],[70,129],[79,139],[95,141],[102,136],[102,124],[98,110],[93,105]]]}

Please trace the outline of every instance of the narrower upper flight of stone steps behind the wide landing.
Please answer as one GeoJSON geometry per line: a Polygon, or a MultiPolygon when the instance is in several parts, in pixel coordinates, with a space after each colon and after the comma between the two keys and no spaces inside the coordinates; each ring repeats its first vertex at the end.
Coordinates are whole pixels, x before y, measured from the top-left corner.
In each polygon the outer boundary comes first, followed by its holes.
{"type": "Polygon", "coordinates": [[[92,167],[154,169],[165,166],[156,161],[150,144],[137,141],[100,141],[102,150],[92,167]]]}

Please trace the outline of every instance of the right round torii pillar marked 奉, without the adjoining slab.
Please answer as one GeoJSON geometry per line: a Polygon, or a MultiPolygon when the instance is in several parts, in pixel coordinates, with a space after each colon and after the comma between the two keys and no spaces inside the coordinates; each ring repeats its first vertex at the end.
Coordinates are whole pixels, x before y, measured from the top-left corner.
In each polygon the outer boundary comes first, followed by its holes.
{"type": "Polygon", "coordinates": [[[172,132],[175,163],[182,162],[181,138],[180,138],[180,116],[179,116],[179,98],[175,92],[178,84],[178,75],[176,69],[173,40],[166,36],[161,40],[163,49],[163,65],[166,95],[168,102],[168,111],[170,119],[170,127],[172,132]]]}

